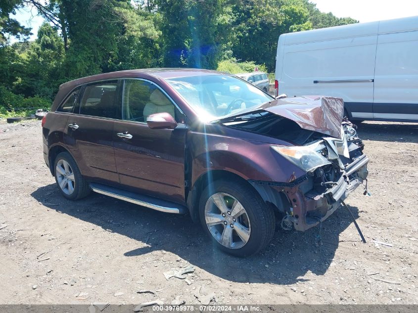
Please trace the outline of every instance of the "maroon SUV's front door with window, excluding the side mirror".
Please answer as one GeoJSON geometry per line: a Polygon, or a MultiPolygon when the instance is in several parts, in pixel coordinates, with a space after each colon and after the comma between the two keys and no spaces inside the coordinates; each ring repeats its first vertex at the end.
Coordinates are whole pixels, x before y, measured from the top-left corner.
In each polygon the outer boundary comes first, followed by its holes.
{"type": "Polygon", "coordinates": [[[123,82],[121,120],[113,140],[116,167],[126,189],[184,203],[185,138],[183,113],[156,84],[141,79],[123,82]],[[174,130],[150,129],[146,117],[168,112],[179,123],[174,130]]]}

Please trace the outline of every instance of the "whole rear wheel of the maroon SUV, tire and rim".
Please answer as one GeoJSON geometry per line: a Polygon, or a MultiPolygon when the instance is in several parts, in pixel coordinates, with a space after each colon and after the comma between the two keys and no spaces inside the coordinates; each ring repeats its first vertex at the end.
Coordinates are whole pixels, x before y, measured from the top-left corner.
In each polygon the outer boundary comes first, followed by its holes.
{"type": "Polygon", "coordinates": [[[56,184],[65,198],[77,200],[90,193],[87,181],[68,152],[61,152],[56,156],[54,174],[56,184]]]}

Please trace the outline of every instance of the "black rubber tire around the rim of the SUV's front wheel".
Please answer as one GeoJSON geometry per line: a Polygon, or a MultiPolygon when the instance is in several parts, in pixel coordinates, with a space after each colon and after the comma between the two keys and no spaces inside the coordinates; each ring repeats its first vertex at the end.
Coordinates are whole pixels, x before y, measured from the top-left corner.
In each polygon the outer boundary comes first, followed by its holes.
{"type": "Polygon", "coordinates": [[[202,192],[199,202],[199,218],[204,231],[213,239],[222,251],[236,257],[247,257],[264,249],[275,233],[276,217],[271,206],[266,205],[260,195],[246,182],[217,180],[209,184],[202,192]],[[223,246],[212,235],[205,221],[205,206],[208,199],[215,193],[227,193],[238,200],[244,207],[251,232],[246,244],[238,249],[223,246]]]}

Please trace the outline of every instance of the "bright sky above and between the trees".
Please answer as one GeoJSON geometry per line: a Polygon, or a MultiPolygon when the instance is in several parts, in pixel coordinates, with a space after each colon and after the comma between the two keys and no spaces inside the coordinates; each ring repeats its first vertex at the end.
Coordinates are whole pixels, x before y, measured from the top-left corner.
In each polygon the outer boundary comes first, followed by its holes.
{"type": "MultiPolygon", "coordinates": [[[[352,17],[360,23],[381,21],[393,18],[418,15],[418,0],[311,0],[322,12],[331,12],[337,17],[352,17]]],[[[43,18],[37,16],[37,10],[22,8],[16,12],[16,18],[22,25],[32,27],[33,35],[37,36],[43,18]]],[[[10,43],[16,42],[10,38],[10,43]]]]}

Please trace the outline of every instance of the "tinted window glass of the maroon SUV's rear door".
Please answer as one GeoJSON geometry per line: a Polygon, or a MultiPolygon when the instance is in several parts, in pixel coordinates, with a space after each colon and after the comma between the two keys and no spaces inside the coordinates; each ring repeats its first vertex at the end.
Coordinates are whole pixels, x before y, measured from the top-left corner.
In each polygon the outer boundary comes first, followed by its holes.
{"type": "Polygon", "coordinates": [[[80,114],[116,118],[117,82],[100,82],[86,86],[80,114]]]}

